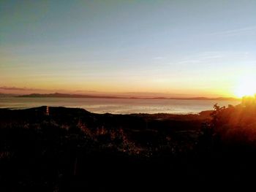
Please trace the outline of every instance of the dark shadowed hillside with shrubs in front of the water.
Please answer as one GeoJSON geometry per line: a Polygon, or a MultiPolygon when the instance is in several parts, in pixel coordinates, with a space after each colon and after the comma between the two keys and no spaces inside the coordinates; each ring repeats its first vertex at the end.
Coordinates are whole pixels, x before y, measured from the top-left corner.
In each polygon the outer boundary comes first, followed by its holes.
{"type": "Polygon", "coordinates": [[[232,114],[243,110],[217,108],[210,116],[2,109],[0,191],[170,191],[250,183],[255,140],[227,133],[235,127],[232,114]]]}

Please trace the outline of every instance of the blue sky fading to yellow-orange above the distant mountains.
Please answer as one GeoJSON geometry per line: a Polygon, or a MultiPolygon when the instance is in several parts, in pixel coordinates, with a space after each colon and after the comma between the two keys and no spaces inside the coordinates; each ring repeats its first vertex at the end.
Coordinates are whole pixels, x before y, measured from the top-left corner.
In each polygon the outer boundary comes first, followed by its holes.
{"type": "Polygon", "coordinates": [[[256,1],[0,1],[0,92],[234,96],[256,1]]]}

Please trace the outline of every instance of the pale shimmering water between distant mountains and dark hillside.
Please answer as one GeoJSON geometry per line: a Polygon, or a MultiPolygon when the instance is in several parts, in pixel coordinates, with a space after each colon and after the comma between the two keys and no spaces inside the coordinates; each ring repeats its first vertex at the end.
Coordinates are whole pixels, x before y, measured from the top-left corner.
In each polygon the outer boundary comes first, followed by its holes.
{"type": "Polygon", "coordinates": [[[212,110],[213,105],[239,104],[239,101],[203,101],[179,99],[87,99],[87,98],[0,98],[0,108],[24,109],[30,107],[62,106],[79,107],[90,112],[114,114],[129,113],[197,113],[212,110]]]}

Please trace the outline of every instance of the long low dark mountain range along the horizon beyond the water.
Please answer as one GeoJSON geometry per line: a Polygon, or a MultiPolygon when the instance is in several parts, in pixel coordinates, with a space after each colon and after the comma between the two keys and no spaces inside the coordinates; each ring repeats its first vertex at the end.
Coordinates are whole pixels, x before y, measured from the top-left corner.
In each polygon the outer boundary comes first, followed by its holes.
{"type": "Polygon", "coordinates": [[[208,98],[208,97],[123,97],[123,96],[92,96],[92,95],[79,95],[79,94],[66,94],[66,93],[49,93],[49,94],[39,94],[32,93],[29,95],[21,95],[17,97],[55,97],[55,98],[98,98],[98,99],[184,99],[184,100],[219,100],[219,101],[232,101],[239,100],[233,97],[217,97],[217,98],[208,98]]]}

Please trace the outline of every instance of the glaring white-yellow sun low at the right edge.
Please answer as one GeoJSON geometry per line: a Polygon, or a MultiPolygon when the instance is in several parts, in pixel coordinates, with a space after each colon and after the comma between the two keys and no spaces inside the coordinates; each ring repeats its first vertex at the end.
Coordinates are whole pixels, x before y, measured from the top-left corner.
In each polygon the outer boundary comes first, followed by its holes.
{"type": "Polygon", "coordinates": [[[247,76],[238,81],[235,95],[238,97],[254,96],[256,93],[256,77],[247,76]]]}

